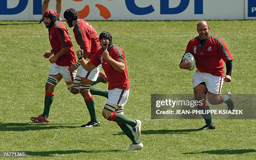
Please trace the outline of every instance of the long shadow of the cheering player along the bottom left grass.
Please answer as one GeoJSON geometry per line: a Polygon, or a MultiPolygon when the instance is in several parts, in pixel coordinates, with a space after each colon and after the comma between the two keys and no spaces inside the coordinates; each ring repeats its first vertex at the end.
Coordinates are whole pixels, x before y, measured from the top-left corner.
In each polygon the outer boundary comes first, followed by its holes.
{"type": "Polygon", "coordinates": [[[123,152],[123,150],[53,150],[53,151],[25,151],[27,155],[33,156],[54,156],[55,154],[65,155],[74,153],[105,153],[105,152],[123,152]]]}

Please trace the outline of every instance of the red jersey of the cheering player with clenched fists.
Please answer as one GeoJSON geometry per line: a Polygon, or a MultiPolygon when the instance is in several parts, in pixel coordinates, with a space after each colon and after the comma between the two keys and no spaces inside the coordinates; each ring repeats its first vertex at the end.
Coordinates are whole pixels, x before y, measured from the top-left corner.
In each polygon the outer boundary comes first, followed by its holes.
{"type": "Polygon", "coordinates": [[[125,53],[122,48],[119,46],[113,45],[113,47],[109,48],[109,55],[111,58],[113,58],[115,61],[119,61],[125,64],[125,69],[123,72],[119,72],[111,66],[111,64],[106,61],[103,56],[103,48],[100,48],[90,59],[90,62],[94,66],[98,66],[101,64],[102,68],[105,71],[106,76],[108,77],[108,89],[112,90],[115,88],[118,89],[129,89],[130,83],[129,83],[129,77],[127,73],[126,68],[126,62],[125,62],[125,53]]]}

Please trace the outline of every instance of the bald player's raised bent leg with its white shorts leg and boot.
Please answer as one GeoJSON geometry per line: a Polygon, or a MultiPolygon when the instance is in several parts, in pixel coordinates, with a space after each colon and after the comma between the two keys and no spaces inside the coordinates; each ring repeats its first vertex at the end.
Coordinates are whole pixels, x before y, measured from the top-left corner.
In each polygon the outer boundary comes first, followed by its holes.
{"type": "Polygon", "coordinates": [[[227,92],[226,94],[220,94],[223,81],[223,77],[212,76],[210,74],[207,75],[207,99],[208,102],[213,105],[226,103],[228,109],[232,110],[234,108],[232,94],[230,92],[227,92]]]}

